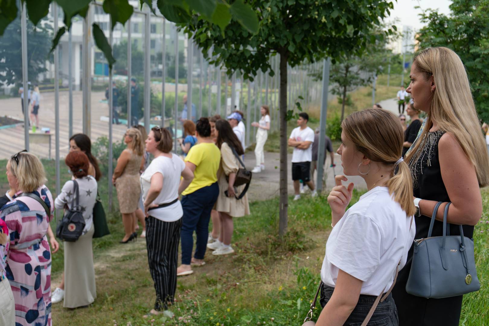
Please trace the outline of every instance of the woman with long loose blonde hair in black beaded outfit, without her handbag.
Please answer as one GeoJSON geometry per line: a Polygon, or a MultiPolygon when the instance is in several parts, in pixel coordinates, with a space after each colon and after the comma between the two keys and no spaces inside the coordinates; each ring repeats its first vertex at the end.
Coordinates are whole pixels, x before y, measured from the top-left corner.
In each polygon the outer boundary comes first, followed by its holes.
{"type": "MultiPolygon", "coordinates": [[[[432,236],[443,235],[441,220],[446,202],[451,202],[447,215],[450,235],[460,235],[462,225],[464,236],[472,238],[482,215],[479,187],[489,184],[489,160],[467,72],[455,52],[430,47],[415,55],[410,78],[407,92],[413,106],[427,113],[425,128],[405,157],[417,208],[415,239],[427,237],[439,201],[444,203],[438,209],[432,236]]],[[[458,326],[463,296],[427,299],[406,292],[412,260],[413,245],[392,291],[399,325],[458,326]]]]}

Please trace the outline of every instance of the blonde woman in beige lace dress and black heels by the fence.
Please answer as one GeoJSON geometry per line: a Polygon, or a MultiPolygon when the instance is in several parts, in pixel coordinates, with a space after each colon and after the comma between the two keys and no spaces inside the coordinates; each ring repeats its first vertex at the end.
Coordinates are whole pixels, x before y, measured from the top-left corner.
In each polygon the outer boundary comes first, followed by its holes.
{"type": "Polygon", "coordinates": [[[141,132],[130,128],[124,135],[127,148],[117,159],[117,166],[112,175],[112,183],[117,190],[119,210],[122,214],[125,236],[120,241],[127,243],[137,239],[135,230],[136,210],[139,204],[141,188],[139,185],[139,171],[144,169],[144,145],[141,132]]]}

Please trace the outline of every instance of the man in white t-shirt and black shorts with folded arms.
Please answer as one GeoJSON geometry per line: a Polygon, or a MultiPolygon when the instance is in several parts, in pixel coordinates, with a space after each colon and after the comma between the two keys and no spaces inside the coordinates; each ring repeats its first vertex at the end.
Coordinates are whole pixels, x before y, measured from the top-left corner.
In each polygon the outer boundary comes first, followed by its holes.
{"type": "Polygon", "coordinates": [[[312,196],[316,196],[314,184],[311,181],[311,161],[312,146],[314,142],[314,130],[307,126],[309,115],[306,112],[299,113],[297,125],[299,127],[292,130],[289,137],[289,146],[294,148],[292,153],[292,180],[294,181],[294,200],[298,200],[299,180],[307,184],[312,191],[312,196]]]}

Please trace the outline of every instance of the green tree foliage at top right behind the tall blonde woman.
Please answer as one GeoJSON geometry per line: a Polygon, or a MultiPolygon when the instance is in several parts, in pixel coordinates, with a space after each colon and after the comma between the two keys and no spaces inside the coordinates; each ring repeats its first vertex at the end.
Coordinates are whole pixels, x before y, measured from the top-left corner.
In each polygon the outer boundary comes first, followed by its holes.
{"type": "Polygon", "coordinates": [[[449,16],[426,10],[417,40],[422,48],[446,46],[460,56],[479,116],[489,121],[489,0],[453,0],[449,8],[449,16]]]}

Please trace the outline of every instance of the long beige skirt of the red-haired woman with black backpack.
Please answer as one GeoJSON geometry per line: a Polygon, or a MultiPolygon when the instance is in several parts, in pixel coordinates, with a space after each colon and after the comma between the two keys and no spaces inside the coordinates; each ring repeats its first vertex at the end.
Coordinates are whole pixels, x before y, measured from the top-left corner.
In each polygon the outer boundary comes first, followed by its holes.
{"type": "Polygon", "coordinates": [[[75,242],[65,241],[65,308],[77,308],[95,301],[95,270],[93,268],[92,237],[90,230],[75,242]]]}

